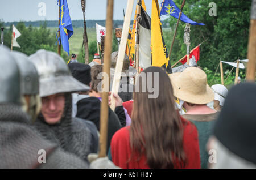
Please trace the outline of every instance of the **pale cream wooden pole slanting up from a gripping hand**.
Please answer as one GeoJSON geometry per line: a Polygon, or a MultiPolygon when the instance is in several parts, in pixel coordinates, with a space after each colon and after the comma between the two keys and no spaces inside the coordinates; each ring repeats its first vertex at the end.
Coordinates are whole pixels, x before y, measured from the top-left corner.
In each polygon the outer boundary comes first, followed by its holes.
{"type": "Polygon", "coordinates": [[[134,0],[128,0],[127,7],[126,7],[126,13],[125,13],[125,20],[123,22],[123,31],[122,31],[122,37],[120,42],[120,48],[117,55],[117,64],[115,65],[115,74],[113,78],[112,83],[112,93],[111,93],[111,105],[110,108],[114,111],[115,109],[115,100],[113,98],[113,93],[117,94],[119,90],[119,83],[121,78],[121,72],[123,67],[123,59],[125,58],[125,49],[126,49],[126,43],[127,38],[129,34],[129,26],[130,26],[130,20],[131,20],[131,12],[133,12],[133,4],[134,0]]]}

